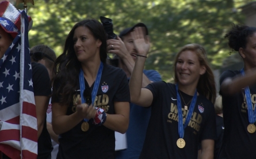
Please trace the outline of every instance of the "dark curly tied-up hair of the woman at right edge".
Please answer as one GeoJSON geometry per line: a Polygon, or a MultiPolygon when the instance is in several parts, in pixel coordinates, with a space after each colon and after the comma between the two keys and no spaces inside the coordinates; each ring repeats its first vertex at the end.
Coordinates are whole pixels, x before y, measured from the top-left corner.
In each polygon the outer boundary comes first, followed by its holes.
{"type": "Polygon", "coordinates": [[[235,51],[239,48],[246,48],[248,38],[256,32],[256,27],[249,27],[246,25],[233,24],[232,29],[224,36],[228,38],[228,46],[235,51]]]}

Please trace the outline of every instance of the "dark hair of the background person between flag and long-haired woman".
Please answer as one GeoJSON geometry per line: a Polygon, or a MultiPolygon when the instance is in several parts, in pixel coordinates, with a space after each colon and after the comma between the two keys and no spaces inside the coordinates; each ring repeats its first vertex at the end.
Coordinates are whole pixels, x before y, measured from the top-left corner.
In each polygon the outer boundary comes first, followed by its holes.
{"type": "MultiPolygon", "coordinates": [[[[54,61],[56,60],[56,54],[55,54],[55,51],[52,50],[49,46],[47,45],[43,45],[43,44],[40,44],[40,45],[36,45],[36,46],[33,46],[31,49],[30,49],[30,53],[36,53],[36,52],[42,52],[42,53],[45,53],[47,54],[49,57],[51,57],[54,61]]],[[[45,66],[48,68],[48,69],[51,69],[53,66],[54,66],[54,62],[51,61],[49,58],[45,58],[45,66]]],[[[31,61],[34,61],[33,58],[31,58],[31,61]]]]}

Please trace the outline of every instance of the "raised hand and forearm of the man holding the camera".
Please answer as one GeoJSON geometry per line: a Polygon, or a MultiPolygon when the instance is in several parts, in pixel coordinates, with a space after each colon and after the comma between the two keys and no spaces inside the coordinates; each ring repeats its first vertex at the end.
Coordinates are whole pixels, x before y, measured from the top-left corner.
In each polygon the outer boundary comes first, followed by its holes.
{"type": "MultiPolygon", "coordinates": [[[[119,37],[117,37],[117,39],[109,39],[107,41],[107,46],[108,46],[107,47],[108,53],[116,54],[121,59],[121,62],[124,63],[129,74],[132,74],[133,68],[135,66],[135,61],[133,60],[132,55],[128,53],[128,50],[125,47],[125,44],[122,41],[122,39],[119,37]],[[114,46],[114,49],[112,49],[111,45],[114,46]]],[[[146,50],[147,52],[148,52],[148,49],[146,50]]],[[[142,88],[144,88],[148,84],[150,84],[152,81],[148,80],[147,76],[144,73],[142,74],[143,74],[142,88]]]]}

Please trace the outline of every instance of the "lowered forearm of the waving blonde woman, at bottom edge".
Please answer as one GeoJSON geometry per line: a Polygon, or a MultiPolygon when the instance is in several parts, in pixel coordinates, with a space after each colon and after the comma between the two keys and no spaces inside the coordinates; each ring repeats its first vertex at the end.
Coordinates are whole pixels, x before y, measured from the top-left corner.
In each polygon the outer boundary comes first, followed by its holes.
{"type": "MultiPolygon", "coordinates": [[[[206,139],[201,141],[201,159],[212,159],[214,150],[214,140],[206,139]]],[[[199,156],[199,155],[198,155],[199,156]]],[[[200,158],[199,158],[200,159],[200,158]]]]}

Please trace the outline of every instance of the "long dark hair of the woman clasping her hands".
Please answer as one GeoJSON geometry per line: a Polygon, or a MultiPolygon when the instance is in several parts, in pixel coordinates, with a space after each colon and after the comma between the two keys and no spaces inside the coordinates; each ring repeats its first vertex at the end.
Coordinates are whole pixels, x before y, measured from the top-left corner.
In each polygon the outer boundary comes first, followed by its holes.
{"type": "Polygon", "coordinates": [[[104,27],[95,19],[86,19],[76,23],[70,33],[67,35],[63,53],[56,59],[54,65],[54,90],[53,97],[60,97],[61,105],[69,105],[73,100],[75,89],[78,85],[78,76],[81,69],[81,62],[78,61],[74,50],[74,32],[80,26],[84,26],[90,30],[93,37],[100,39],[100,59],[106,62],[106,33],[104,27]],[[61,94],[61,96],[59,96],[61,94]]]}

